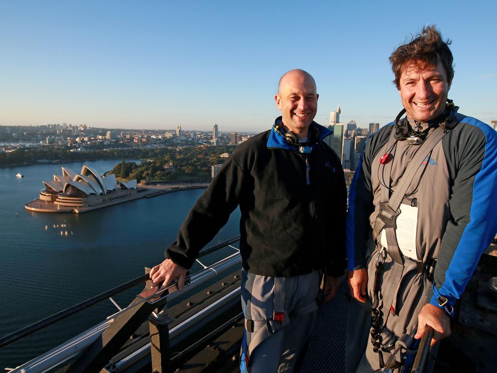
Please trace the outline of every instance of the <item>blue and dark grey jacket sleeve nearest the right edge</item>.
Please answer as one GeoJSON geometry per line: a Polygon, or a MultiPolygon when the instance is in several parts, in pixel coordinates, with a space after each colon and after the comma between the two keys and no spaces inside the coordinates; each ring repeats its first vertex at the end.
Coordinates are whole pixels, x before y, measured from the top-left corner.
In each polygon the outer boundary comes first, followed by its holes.
{"type": "Polygon", "coordinates": [[[476,128],[461,145],[451,187],[452,220],[442,237],[429,300],[437,307],[440,295],[451,305],[461,297],[497,231],[497,132],[475,118],[463,122],[476,128]]]}

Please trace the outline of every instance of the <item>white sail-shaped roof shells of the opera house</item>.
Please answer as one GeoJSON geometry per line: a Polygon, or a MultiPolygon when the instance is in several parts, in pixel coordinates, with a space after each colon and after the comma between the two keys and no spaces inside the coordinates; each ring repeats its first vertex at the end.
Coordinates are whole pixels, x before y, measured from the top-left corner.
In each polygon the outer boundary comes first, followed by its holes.
{"type": "MultiPolygon", "coordinates": [[[[47,191],[67,195],[103,195],[115,190],[117,181],[114,174],[103,177],[90,166],[83,165],[81,173],[63,167],[62,175],[54,175],[53,181],[44,181],[47,191]]],[[[136,180],[119,182],[122,189],[136,189],[136,180]]]]}

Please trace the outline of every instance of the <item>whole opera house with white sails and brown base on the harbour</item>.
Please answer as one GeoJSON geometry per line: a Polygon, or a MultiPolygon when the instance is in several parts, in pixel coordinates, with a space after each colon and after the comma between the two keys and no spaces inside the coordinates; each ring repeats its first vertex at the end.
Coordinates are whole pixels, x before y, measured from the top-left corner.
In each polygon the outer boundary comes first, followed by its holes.
{"type": "Polygon", "coordinates": [[[54,175],[43,185],[39,198],[24,206],[27,210],[81,213],[143,196],[137,193],[136,180],[118,182],[114,174],[100,176],[86,165],[79,174],[62,167],[62,175],[54,175]]]}

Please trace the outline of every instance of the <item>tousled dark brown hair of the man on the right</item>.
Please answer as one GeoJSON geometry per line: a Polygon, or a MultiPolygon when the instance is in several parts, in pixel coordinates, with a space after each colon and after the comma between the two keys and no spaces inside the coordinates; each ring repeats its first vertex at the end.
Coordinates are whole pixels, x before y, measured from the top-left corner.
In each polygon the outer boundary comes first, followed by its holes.
{"type": "Polygon", "coordinates": [[[447,83],[450,84],[454,77],[453,57],[449,49],[451,43],[450,39],[443,41],[435,25],[426,25],[409,43],[403,43],[397,48],[389,58],[395,75],[393,83],[397,89],[400,88],[404,69],[414,67],[416,70],[424,70],[428,66],[436,66],[438,62],[442,63],[447,73],[447,83]]]}

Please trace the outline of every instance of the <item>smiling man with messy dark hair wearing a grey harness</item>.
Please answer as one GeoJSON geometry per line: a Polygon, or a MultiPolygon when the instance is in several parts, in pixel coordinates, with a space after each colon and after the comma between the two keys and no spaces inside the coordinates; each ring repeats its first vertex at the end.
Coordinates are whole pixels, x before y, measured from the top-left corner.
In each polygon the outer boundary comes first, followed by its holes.
{"type": "Polygon", "coordinates": [[[366,142],[349,194],[346,372],[408,371],[497,231],[497,133],[457,112],[450,40],[424,27],[390,56],[404,109],[366,142]],[[405,115],[404,115],[405,114],[405,115]]]}

